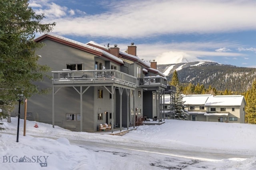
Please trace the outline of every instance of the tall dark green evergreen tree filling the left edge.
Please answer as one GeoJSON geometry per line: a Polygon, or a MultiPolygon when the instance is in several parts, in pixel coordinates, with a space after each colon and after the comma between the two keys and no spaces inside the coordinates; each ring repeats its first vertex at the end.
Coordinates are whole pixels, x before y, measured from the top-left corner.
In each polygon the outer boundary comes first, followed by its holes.
{"type": "MultiPolygon", "coordinates": [[[[17,95],[29,98],[40,89],[33,81],[43,79],[48,66],[37,63],[36,33],[48,33],[55,23],[42,24],[44,14],[36,14],[28,0],[0,1],[0,108],[10,110],[17,103],[17,95]]],[[[0,119],[4,118],[0,113],[0,119]]]]}

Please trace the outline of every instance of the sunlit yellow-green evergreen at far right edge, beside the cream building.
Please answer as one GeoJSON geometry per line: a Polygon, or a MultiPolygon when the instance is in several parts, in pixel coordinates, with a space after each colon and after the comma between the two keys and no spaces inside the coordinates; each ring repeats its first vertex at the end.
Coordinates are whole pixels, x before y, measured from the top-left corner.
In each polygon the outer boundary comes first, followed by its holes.
{"type": "Polygon", "coordinates": [[[246,121],[251,124],[256,124],[256,81],[252,84],[247,98],[246,106],[246,121]]]}

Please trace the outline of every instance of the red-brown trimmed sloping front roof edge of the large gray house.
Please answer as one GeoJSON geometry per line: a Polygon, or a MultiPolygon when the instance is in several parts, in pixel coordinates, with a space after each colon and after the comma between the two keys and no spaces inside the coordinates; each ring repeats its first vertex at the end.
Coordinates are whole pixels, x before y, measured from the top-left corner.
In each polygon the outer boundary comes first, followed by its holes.
{"type": "Polygon", "coordinates": [[[124,64],[122,59],[119,59],[118,57],[116,57],[102,49],[92,47],[90,45],[80,43],[78,41],[74,41],[72,39],[68,39],[68,38],[65,38],[65,37],[62,37],[59,35],[54,35],[54,34],[50,34],[50,33],[44,34],[44,35],[41,35],[40,37],[37,37],[35,39],[35,42],[41,42],[41,41],[44,41],[45,39],[51,39],[52,41],[56,41],[56,42],[65,44],[70,47],[74,47],[76,49],[80,49],[80,50],[86,51],[88,53],[92,53],[94,55],[104,56],[112,61],[116,61],[117,63],[124,64]]]}

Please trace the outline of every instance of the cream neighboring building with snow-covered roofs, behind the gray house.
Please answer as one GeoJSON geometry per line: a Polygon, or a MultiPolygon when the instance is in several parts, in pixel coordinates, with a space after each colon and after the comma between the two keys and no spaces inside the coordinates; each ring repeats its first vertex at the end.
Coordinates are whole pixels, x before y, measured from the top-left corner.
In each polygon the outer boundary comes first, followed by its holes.
{"type": "Polygon", "coordinates": [[[242,95],[185,95],[183,101],[189,120],[245,123],[246,102],[242,95]]]}

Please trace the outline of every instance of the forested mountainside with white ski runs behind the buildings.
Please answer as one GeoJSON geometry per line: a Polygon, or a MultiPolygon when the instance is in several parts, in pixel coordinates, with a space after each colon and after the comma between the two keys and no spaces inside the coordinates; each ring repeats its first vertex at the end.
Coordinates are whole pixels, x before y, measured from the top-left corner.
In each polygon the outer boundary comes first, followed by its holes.
{"type": "Polygon", "coordinates": [[[236,67],[213,62],[193,62],[158,65],[158,70],[168,74],[167,80],[172,79],[174,70],[178,73],[180,83],[210,85],[216,90],[226,89],[236,92],[246,92],[256,80],[256,68],[236,67]],[[166,70],[169,68],[169,74],[166,70]],[[172,69],[170,69],[172,68],[172,69]]]}

